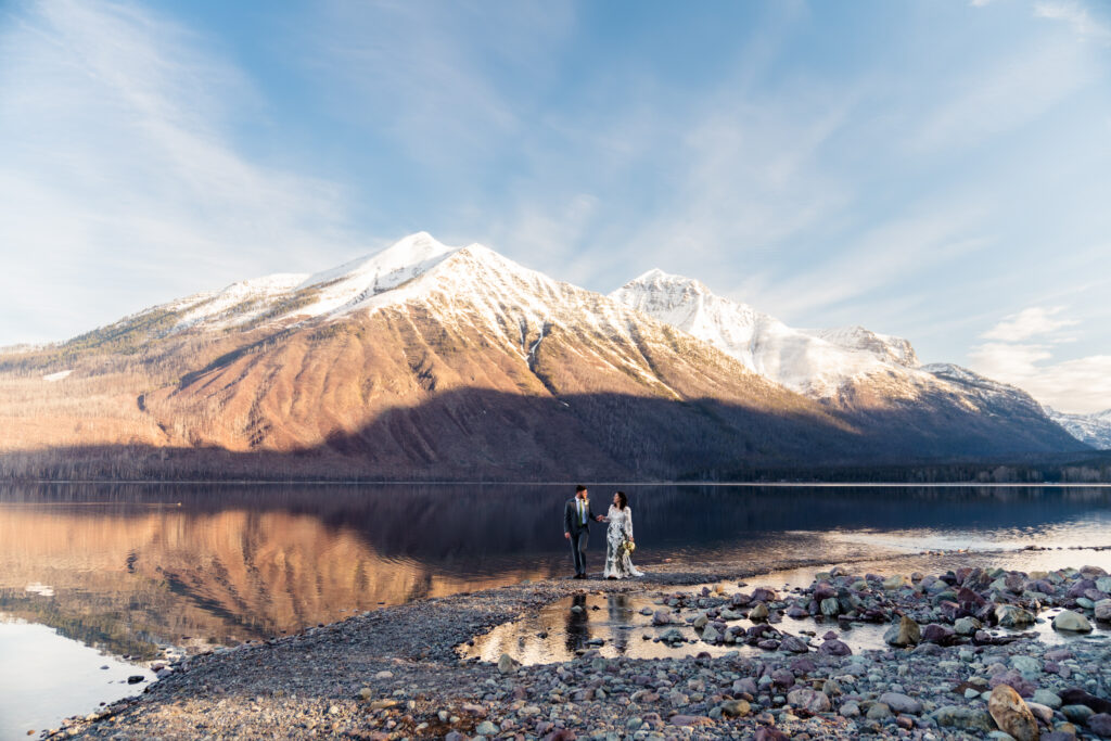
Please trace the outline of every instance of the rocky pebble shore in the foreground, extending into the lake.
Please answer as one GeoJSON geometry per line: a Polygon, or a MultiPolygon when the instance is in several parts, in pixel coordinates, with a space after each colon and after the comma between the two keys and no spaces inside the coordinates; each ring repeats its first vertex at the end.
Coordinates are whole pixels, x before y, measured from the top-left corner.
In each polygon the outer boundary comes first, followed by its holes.
{"type": "Polygon", "coordinates": [[[543,581],[363,613],[182,659],[141,697],[46,735],[1111,738],[1111,647],[1102,633],[1085,638],[1111,619],[1100,568],[877,575],[850,565],[782,593],[748,588],[747,574],[543,581]],[[712,583],[689,585],[700,582],[712,583]],[[641,617],[675,655],[461,658],[476,635],[582,591],[651,597],[641,617]],[[1062,640],[1039,635],[1049,615],[1062,640]],[[815,621],[820,632],[792,630],[815,621]],[[862,625],[889,625],[887,647],[854,650],[862,625]],[[705,651],[678,651],[692,641],[705,651]]]}

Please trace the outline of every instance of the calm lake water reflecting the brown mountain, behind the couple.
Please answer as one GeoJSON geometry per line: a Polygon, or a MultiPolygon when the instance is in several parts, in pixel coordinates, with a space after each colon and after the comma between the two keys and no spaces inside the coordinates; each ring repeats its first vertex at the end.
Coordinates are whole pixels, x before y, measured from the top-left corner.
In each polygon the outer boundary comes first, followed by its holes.
{"type": "MultiPolygon", "coordinates": [[[[565,575],[561,515],[572,489],[0,488],[0,738],[23,738],[119,697],[129,688],[118,674],[142,673],[168,649],[196,651],[422,597],[565,575]],[[28,678],[34,681],[21,681],[28,678]]],[[[611,489],[592,488],[595,510],[604,510],[611,489]]],[[[1111,570],[1111,551],[1068,550],[1111,545],[1109,489],[625,490],[635,560],[645,570],[668,559],[811,558],[871,558],[880,569],[884,559],[923,550],[1025,545],[1065,550],[917,558],[922,568],[1005,559],[1027,570],[1111,570]]],[[[595,528],[591,570],[600,570],[602,541],[595,528]]]]}

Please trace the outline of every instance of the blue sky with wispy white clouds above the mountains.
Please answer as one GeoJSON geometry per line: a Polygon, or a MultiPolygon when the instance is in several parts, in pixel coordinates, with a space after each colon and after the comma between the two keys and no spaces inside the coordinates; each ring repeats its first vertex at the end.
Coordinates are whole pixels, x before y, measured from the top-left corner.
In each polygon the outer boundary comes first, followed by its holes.
{"type": "Polygon", "coordinates": [[[0,0],[0,346],[416,231],[1111,408],[1111,3],[0,0]]]}

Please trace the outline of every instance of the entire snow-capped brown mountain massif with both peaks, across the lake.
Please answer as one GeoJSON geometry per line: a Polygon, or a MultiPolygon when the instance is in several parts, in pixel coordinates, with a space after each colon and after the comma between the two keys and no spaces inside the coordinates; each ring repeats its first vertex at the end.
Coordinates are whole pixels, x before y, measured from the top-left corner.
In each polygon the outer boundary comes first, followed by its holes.
{"type": "Polygon", "coordinates": [[[794,330],[662,274],[605,297],[420,233],[0,354],[0,471],[66,449],[190,475],[219,454],[251,475],[671,478],[1079,445],[954,389],[898,338],[794,330]]]}

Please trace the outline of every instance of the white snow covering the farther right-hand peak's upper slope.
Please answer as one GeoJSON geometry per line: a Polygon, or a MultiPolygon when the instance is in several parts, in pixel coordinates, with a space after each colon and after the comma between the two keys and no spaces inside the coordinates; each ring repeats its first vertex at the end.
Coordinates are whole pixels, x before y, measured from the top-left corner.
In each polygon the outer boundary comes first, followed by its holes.
{"type": "Polygon", "coordinates": [[[697,280],[651,270],[611,298],[713,344],[748,368],[787,388],[817,398],[835,395],[847,383],[897,371],[920,375],[905,340],[862,328],[799,330],[713,294],[697,280]]]}

